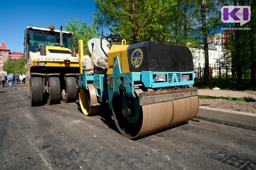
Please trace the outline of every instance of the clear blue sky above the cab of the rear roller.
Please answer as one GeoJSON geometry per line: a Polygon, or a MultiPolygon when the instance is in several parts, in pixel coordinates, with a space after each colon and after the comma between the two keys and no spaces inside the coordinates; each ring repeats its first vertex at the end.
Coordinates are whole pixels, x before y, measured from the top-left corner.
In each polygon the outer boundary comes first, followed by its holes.
{"type": "MultiPolygon", "coordinates": [[[[80,22],[92,25],[92,13],[96,3],[93,0],[73,1],[7,1],[1,2],[0,41],[4,41],[11,52],[23,53],[24,30],[28,25],[41,24],[43,28],[53,24],[55,29],[67,25],[72,16],[80,22]]],[[[65,28],[63,28],[66,31],[65,28]]],[[[0,43],[1,43],[0,42],[0,43]]]]}

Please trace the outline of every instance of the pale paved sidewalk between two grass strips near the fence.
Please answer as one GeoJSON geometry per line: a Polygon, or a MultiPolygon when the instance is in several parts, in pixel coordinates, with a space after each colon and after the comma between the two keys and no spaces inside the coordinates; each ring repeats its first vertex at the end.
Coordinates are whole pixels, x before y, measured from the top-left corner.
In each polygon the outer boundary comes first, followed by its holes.
{"type": "Polygon", "coordinates": [[[233,90],[212,90],[212,89],[198,89],[198,95],[205,96],[223,96],[223,97],[253,97],[256,99],[256,91],[233,91],[233,90]]]}

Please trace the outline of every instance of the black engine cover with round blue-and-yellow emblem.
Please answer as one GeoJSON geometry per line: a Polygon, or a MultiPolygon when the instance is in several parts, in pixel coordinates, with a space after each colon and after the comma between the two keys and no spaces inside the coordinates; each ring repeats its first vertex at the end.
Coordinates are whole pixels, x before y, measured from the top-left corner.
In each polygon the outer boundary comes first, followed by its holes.
{"type": "Polygon", "coordinates": [[[145,41],[130,45],[127,55],[130,72],[194,70],[191,51],[185,46],[145,41]]]}

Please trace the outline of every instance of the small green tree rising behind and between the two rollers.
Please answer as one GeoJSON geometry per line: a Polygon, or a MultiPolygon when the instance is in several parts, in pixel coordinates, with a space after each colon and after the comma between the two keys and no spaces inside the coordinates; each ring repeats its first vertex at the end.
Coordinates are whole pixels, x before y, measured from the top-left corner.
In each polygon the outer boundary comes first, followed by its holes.
{"type": "Polygon", "coordinates": [[[79,22],[77,18],[72,17],[73,22],[68,21],[67,25],[64,25],[64,27],[67,29],[67,31],[72,31],[74,33],[74,36],[77,37],[76,42],[76,48],[78,50],[78,43],[79,39],[83,39],[84,41],[84,52],[86,54],[89,54],[89,48],[87,46],[87,41],[89,41],[92,38],[99,38],[100,32],[96,30],[96,25],[93,23],[92,26],[86,25],[85,20],[82,19],[82,22],[79,22]]]}

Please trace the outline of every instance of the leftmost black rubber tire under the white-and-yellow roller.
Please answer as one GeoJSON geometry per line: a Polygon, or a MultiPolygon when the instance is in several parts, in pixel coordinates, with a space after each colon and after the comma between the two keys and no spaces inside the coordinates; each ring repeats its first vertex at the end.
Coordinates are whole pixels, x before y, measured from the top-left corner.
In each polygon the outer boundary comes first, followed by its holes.
{"type": "Polygon", "coordinates": [[[44,87],[42,77],[31,77],[29,85],[31,106],[44,105],[44,87]]]}

